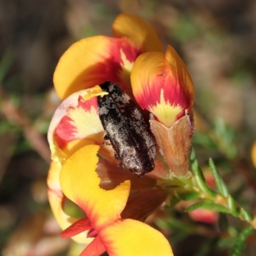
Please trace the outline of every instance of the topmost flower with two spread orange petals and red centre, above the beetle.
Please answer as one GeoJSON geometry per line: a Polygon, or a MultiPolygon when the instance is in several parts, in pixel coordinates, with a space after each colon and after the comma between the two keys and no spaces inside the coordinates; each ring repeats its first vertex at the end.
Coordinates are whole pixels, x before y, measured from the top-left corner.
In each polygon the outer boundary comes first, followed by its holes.
{"type": "Polygon", "coordinates": [[[114,38],[84,38],[63,54],[53,77],[61,99],[105,81],[131,90],[130,72],[136,58],[142,52],[163,51],[156,31],[136,15],[121,13],[112,29],[114,38]]]}

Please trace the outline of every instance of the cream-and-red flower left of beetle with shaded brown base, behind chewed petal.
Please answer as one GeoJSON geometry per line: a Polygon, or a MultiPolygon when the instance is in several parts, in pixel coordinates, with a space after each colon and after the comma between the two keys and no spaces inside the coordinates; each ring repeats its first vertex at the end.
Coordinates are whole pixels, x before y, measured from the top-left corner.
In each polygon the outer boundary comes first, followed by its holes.
{"type": "MultiPolygon", "coordinates": [[[[113,148],[103,143],[104,129],[100,124],[96,101],[96,96],[101,94],[99,86],[73,93],[58,107],[49,127],[48,140],[54,161],[52,161],[47,180],[48,195],[54,216],[63,229],[77,220],[70,218],[63,211],[63,202],[67,195],[63,193],[60,184],[61,165],[67,163],[74,152],[86,145],[100,145],[98,154],[104,160],[99,161],[97,172],[101,178],[102,188],[113,189],[120,182],[130,180],[131,196],[126,202],[127,208],[122,212],[124,218],[143,221],[166,199],[166,192],[163,189],[153,189],[156,186],[156,180],[148,177],[138,179],[116,166],[113,148]]],[[[84,157],[81,158],[82,163],[84,163],[84,157]]],[[[89,156],[86,156],[86,159],[90,161],[89,156]]],[[[76,167],[72,169],[76,170],[76,167]]],[[[84,236],[76,236],[75,240],[79,243],[90,243],[92,240],[84,238],[84,236]]]]}

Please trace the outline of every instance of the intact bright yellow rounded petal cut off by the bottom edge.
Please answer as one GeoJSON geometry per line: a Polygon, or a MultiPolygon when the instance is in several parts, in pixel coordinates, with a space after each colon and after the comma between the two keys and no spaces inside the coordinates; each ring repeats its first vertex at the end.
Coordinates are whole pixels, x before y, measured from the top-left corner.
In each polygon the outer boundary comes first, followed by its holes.
{"type": "Polygon", "coordinates": [[[136,220],[120,220],[99,231],[109,256],[170,256],[172,248],[161,232],[136,220]]]}

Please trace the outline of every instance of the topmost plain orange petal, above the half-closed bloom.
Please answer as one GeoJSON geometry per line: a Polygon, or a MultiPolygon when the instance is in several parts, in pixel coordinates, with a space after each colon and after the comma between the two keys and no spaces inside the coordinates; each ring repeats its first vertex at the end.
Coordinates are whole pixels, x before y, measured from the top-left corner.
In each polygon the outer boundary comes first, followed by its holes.
{"type": "Polygon", "coordinates": [[[140,52],[163,51],[156,31],[147,22],[131,13],[121,13],[113,22],[113,35],[128,38],[140,52]]]}

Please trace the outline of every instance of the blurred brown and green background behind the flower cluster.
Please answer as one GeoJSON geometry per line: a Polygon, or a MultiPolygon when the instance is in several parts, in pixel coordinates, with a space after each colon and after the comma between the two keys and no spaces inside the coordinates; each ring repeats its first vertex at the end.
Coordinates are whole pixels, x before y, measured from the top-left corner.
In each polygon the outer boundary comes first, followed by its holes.
{"type": "MultiPolygon", "coordinates": [[[[206,166],[213,157],[230,193],[256,213],[250,159],[256,138],[256,1],[0,0],[0,252],[4,256],[79,255],[83,248],[59,237],[47,202],[46,134],[60,103],[52,74],[72,43],[86,36],[111,36],[111,24],[120,12],[140,15],[156,29],[164,47],[171,44],[179,52],[196,89],[194,147],[200,163],[206,166]]],[[[221,233],[214,221],[195,223],[179,209],[170,210],[170,216],[157,227],[168,230],[176,256],[228,255],[232,234],[243,226],[230,218],[233,233],[221,233]],[[170,221],[170,216],[175,220],[170,221]],[[191,228],[184,230],[182,223],[191,228]],[[196,232],[195,227],[206,231],[196,232]],[[225,234],[231,235],[227,239],[225,234]]],[[[255,255],[255,239],[250,237],[244,255],[255,255]]]]}

